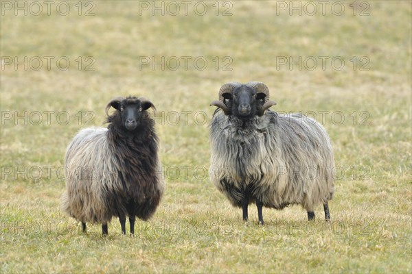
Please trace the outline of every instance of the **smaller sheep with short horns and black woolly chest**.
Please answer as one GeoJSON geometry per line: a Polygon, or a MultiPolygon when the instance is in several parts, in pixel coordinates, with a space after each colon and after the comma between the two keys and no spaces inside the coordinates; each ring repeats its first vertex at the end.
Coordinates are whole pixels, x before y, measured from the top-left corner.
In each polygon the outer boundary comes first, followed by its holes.
{"type": "Polygon", "coordinates": [[[106,106],[108,128],[82,129],[67,147],[62,209],[82,222],[83,232],[87,222],[101,223],[106,235],[118,216],[126,234],[128,216],[133,234],[135,216],[146,221],[159,205],[164,182],[148,108],[155,106],[142,97],[117,97],[106,106]]]}

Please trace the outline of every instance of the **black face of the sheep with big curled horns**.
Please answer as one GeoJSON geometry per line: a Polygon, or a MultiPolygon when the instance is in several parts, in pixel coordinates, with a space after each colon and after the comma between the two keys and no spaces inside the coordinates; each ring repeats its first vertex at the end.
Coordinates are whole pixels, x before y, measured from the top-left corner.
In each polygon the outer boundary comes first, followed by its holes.
{"type": "Polygon", "coordinates": [[[258,106],[263,105],[263,93],[257,93],[253,88],[240,86],[231,93],[223,93],[225,104],[231,110],[231,114],[240,119],[250,119],[258,112],[258,106]]]}

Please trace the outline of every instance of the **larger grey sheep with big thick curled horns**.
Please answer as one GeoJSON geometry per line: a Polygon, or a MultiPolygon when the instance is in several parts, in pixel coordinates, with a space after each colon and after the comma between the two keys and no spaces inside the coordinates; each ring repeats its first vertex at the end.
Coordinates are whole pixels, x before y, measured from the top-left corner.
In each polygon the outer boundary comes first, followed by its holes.
{"type": "Polygon", "coordinates": [[[259,223],[262,207],[282,210],[300,204],[314,219],[314,207],[334,194],[334,155],[323,126],[303,114],[268,110],[268,87],[261,82],[223,85],[210,125],[209,178],[233,206],[255,201],[259,223]]]}

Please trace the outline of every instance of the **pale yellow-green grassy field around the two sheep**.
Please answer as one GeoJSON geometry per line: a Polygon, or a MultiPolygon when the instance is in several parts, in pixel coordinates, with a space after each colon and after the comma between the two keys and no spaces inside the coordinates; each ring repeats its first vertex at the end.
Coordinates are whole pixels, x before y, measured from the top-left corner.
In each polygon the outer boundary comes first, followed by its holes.
{"type": "Polygon", "coordinates": [[[0,4],[1,273],[412,273],[411,1],[0,4]],[[252,80],[328,130],[330,223],[244,223],[209,182],[209,102],[252,80]],[[113,219],[104,238],[60,211],[63,157],[118,95],[155,103],[167,188],[135,237],[113,219]]]}

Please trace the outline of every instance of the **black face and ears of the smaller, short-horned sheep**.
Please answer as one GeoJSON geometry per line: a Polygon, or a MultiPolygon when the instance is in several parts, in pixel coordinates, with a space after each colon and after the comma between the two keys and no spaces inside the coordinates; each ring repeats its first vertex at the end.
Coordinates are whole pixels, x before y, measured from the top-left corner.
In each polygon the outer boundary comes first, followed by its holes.
{"type": "Polygon", "coordinates": [[[150,102],[142,102],[138,99],[125,99],[113,101],[111,106],[119,111],[122,125],[128,130],[135,130],[144,118],[144,111],[152,106],[150,102]]]}

